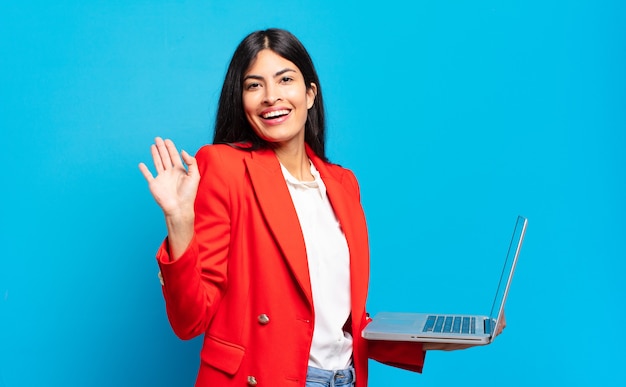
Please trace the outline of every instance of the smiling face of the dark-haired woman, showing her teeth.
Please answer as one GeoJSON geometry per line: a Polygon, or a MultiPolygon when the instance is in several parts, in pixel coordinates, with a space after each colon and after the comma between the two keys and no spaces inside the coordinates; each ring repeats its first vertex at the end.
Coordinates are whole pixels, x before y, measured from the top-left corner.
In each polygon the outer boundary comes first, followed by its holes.
{"type": "Polygon", "coordinates": [[[317,86],[307,88],[298,67],[269,49],[257,54],[243,79],[243,108],[256,134],[273,146],[304,146],[317,86]]]}

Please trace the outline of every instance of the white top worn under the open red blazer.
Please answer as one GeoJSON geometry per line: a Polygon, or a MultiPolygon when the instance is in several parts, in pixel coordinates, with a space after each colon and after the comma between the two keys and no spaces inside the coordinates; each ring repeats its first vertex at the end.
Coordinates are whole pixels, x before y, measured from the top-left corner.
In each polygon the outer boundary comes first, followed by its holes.
{"type": "Polygon", "coordinates": [[[306,246],[315,308],[309,365],[345,369],[352,361],[352,336],[343,326],[350,315],[350,252],[326,195],[326,186],[311,163],[314,181],[299,181],[282,166],[306,246]]]}

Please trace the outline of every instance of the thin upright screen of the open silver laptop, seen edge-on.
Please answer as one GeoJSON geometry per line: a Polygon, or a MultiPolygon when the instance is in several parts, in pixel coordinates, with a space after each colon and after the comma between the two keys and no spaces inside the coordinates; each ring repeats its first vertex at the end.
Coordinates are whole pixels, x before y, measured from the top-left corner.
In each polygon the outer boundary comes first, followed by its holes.
{"type": "Polygon", "coordinates": [[[504,302],[507,294],[509,293],[509,286],[511,285],[511,279],[513,278],[513,272],[515,271],[515,265],[517,264],[517,257],[519,256],[520,249],[522,248],[522,241],[524,240],[524,234],[526,234],[527,224],[528,220],[526,218],[523,216],[517,217],[517,223],[515,224],[515,230],[513,231],[509,251],[507,252],[504,267],[502,268],[502,275],[500,276],[500,282],[498,283],[496,298],[493,301],[491,312],[489,313],[489,321],[491,321],[492,325],[491,327],[485,326],[485,333],[491,334],[502,318],[502,314],[504,312],[504,302]]]}

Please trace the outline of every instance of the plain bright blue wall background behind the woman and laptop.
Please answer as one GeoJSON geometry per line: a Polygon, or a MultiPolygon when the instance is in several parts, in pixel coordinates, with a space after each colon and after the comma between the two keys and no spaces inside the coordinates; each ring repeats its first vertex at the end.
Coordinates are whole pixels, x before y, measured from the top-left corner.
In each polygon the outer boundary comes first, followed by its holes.
{"type": "Polygon", "coordinates": [[[192,385],[137,164],[157,135],[211,141],[235,46],[273,26],[361,183],[370,312],[487,313],[529,218],[505,333],[371,385],[625,385],[624,4],[2,1],[0,386],[192,385]]]}

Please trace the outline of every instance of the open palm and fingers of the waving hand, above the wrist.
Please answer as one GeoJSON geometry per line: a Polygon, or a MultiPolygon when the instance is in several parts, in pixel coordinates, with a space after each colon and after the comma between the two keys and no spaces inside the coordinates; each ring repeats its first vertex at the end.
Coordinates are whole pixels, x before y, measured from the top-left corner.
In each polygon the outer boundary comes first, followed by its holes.
{"type": "Polygon", "coordinates": [[[151,152],[156,177],[143,163],[139,165],[139,169],[148,182],[154,200],[166,216],[192,215],[200,181],[195,159],[184,151],[182,155],[179,154],[172,141],[163,141],[161,138],[155,140],[151,152]]]}

